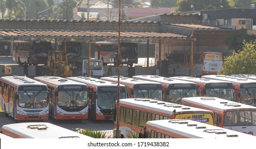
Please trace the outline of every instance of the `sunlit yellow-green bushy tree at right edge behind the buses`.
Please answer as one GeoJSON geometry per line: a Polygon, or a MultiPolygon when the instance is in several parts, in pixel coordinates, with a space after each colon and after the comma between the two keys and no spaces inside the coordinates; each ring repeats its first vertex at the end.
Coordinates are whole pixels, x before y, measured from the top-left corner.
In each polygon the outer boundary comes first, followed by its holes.
{"type": "Polygon", "coordinates": [[[249,43],[243,42],[243,50],[233,52],[225,57],[222,68],[218,74],[255,74],[256,73],[256,40],[249,43]]]}

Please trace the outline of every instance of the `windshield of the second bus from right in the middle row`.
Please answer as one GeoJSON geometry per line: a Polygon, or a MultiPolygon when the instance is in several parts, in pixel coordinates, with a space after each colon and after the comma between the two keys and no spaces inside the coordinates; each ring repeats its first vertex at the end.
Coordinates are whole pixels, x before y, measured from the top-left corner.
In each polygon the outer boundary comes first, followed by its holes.
{"type": "Polygon", "coordinates": [[[210,88],[205,89],[206,97],[218,97],[229,101],[234,101],[233,88],[210,88]]]}

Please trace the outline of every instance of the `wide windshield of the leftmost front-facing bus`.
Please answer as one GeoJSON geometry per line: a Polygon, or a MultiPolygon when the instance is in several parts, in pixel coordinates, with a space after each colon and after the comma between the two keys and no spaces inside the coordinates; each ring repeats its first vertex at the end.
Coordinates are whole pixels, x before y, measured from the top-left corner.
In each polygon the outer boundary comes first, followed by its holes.
{"type": "Polygon", "coordinates": [[[37,109],[48,105],[47,92],[19,92],[19,107],[37,109]]]}

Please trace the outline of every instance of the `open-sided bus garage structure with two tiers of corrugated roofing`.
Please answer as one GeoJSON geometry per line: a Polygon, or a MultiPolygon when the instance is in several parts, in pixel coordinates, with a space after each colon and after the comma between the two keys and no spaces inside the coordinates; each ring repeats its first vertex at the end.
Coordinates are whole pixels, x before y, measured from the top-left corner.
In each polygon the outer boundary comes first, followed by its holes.
{"type": "MultiPolygon", "coordinates": [[[[1,19],[0,22],[0,37],[12,40],[22,38],[64,38],[88,39],[90,42],[91,39],[118,39],[118,21],[114,20],[1,19]]],[[[198,24],[122,21],[120,39],[140,40],[148,44],[149,42],[155,43],[155,60],[159,68],[159,75],[161,75],[162,60],[166,60],[166,55],[173,51],[174,47],[175,49],[193,53],[194,48],[198,51],[201,48],[200,45],[205,43],[206,48],[215,50],[218,44],[214,43],[212,39],[219,39],[220,35],[225,37],[231,31],[233,30],[198,24]]],[[[149,65],[148,62],[147,67],[149,65]]],[[[193,76],[193,71],[191,71],[190,76],[193,76]]]]}

